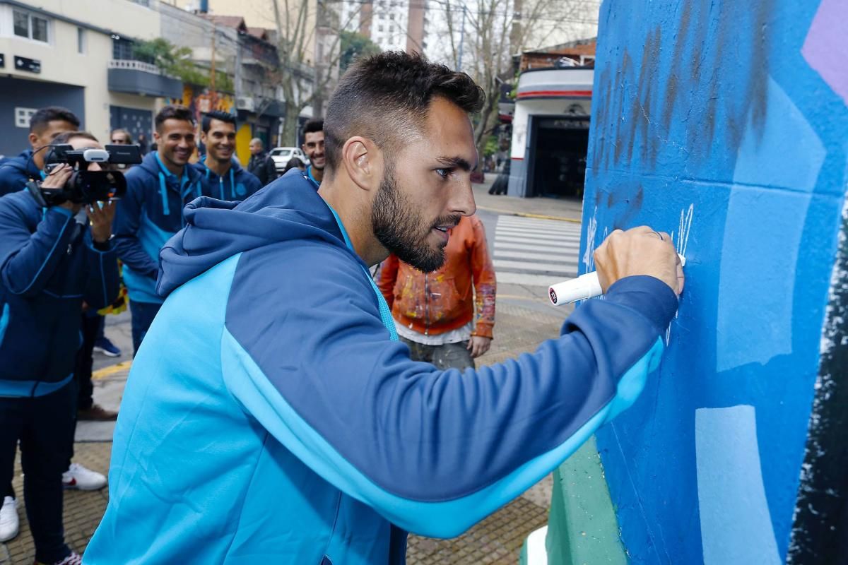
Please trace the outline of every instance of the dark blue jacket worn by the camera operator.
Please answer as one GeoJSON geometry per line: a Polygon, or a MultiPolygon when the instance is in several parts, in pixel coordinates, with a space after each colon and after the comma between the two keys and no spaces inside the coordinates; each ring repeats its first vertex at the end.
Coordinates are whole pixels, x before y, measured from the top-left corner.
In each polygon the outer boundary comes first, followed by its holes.
{"type": "Polygon", "coordinates": [[[41,396],[73,376],[82,301],[118,295],[114,248],[92,245],[88,219],[40,208],[29,191],[0,198],[0,396],[41,396]]]}

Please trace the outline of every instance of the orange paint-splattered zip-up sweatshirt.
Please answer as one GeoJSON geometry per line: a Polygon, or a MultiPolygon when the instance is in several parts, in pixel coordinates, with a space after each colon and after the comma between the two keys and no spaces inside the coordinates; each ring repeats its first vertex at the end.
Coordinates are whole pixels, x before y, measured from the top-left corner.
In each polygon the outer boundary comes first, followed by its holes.
{"type": "Polygon", "coordinates": [[[441,269],[421,273],[392,255],[382,263],[378,286],[399,324],[419,334],[439,335],[474,319],[471,335],[492,337],[494,267],[486,231],[476,215],[464,217],[449,231],[441,269]],[[471,285],[474,292],[471,292],[471,285]]]}

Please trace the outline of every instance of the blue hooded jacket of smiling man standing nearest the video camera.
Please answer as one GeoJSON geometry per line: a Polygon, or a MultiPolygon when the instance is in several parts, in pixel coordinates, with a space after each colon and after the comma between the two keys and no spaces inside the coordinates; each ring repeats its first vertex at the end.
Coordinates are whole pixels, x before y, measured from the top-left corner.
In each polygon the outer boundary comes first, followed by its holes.
{"type": "Polygon", "coordinates": [[[162,302],[156,294],[159,250],[185,225],[182,208],[203,191],[197,169],[187,165],[178,178],[165,169],[157,152],[126,172],[126,196],[114,214],[114,241],[130,300],[162,302]]]}

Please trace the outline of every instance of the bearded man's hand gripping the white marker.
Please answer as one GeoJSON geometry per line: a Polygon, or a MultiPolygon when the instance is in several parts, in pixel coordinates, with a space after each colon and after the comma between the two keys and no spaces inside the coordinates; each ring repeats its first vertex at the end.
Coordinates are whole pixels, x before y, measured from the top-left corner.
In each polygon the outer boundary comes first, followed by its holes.
{"type": "Polygon", "coordinates": [[[638,274],[661,280],[678,295],[683,291],[683,267],[671,235],[647,225],[613,231],[594,252],[594,262],[604,292],[616,280],[638,274]]]}

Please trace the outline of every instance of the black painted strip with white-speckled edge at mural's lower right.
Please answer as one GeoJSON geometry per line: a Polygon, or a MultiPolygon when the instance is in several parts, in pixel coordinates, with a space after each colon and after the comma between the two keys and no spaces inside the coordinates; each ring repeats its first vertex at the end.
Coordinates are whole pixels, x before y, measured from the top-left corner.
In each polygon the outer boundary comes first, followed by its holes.
{"type": "Polygon", "coordinates": [[[848,563],[848,219],[824,321],[795,523],[786,562],[848,563]]]}

